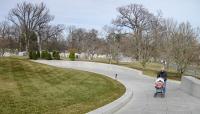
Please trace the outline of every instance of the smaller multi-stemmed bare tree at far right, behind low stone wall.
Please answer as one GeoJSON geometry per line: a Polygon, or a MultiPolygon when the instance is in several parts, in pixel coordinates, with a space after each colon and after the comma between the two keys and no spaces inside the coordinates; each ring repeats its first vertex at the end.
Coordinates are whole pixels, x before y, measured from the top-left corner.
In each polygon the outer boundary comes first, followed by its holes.
{"type": "Polygon", "coordinates": [[[195,58],[198,47],[197,34],[189,23],[181,23],[171,39],[171,57],[182,75],[195,58]]]}

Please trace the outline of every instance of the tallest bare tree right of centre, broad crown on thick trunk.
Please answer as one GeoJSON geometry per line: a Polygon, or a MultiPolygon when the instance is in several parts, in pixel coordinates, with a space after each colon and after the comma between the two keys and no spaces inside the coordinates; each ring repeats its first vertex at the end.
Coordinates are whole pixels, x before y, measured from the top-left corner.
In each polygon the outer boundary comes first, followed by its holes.
{"type": "Polygon", "coordinates": [[[133,38],[135,49],[135,58],[139,60],[141,58],[141,40],[143,37],[143,31],[149,29],[150,22],[153,14],[149,13],[142,5],[130,4],[127,6],[119,7],[118,12],[120,15],[113,20],[113,24],[121,27],[126,27],[134,32],[133,38]]]}

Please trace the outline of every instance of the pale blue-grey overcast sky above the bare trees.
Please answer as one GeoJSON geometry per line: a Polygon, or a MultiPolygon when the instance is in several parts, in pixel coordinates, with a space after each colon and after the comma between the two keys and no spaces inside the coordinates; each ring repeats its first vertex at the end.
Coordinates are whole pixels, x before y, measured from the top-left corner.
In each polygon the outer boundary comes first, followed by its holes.
{"type": "MultiPolygon", "coordinates": [[[[0,0],[0,21],[9,10],[24,0],[0,0]]],[[[130,3],[142,4],[150,12],[161,10],[165,18],[189,21],[200,27],[200,0],[26,0],[44,2],[55,16],[52,23],[101,29],[117,16],[116,8],[130,3]]]]}

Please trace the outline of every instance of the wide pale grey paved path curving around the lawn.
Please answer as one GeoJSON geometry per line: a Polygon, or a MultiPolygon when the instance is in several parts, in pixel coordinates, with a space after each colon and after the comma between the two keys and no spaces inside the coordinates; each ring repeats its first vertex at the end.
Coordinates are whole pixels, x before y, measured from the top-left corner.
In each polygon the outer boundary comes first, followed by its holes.
{"type": "Polygon", "coordinates": [[[192,97],[179,89],[179,82],[168,81],[165,98],[153,98],[155,88],[151,77],[142,75],[139,71],[102,63],[82,61],[45,61],[37,62],[63,68],[73,68],[91,71],[114,78],[132,88],[132,99],[116,114],[200,114],[200,99],[192,97]]]}

